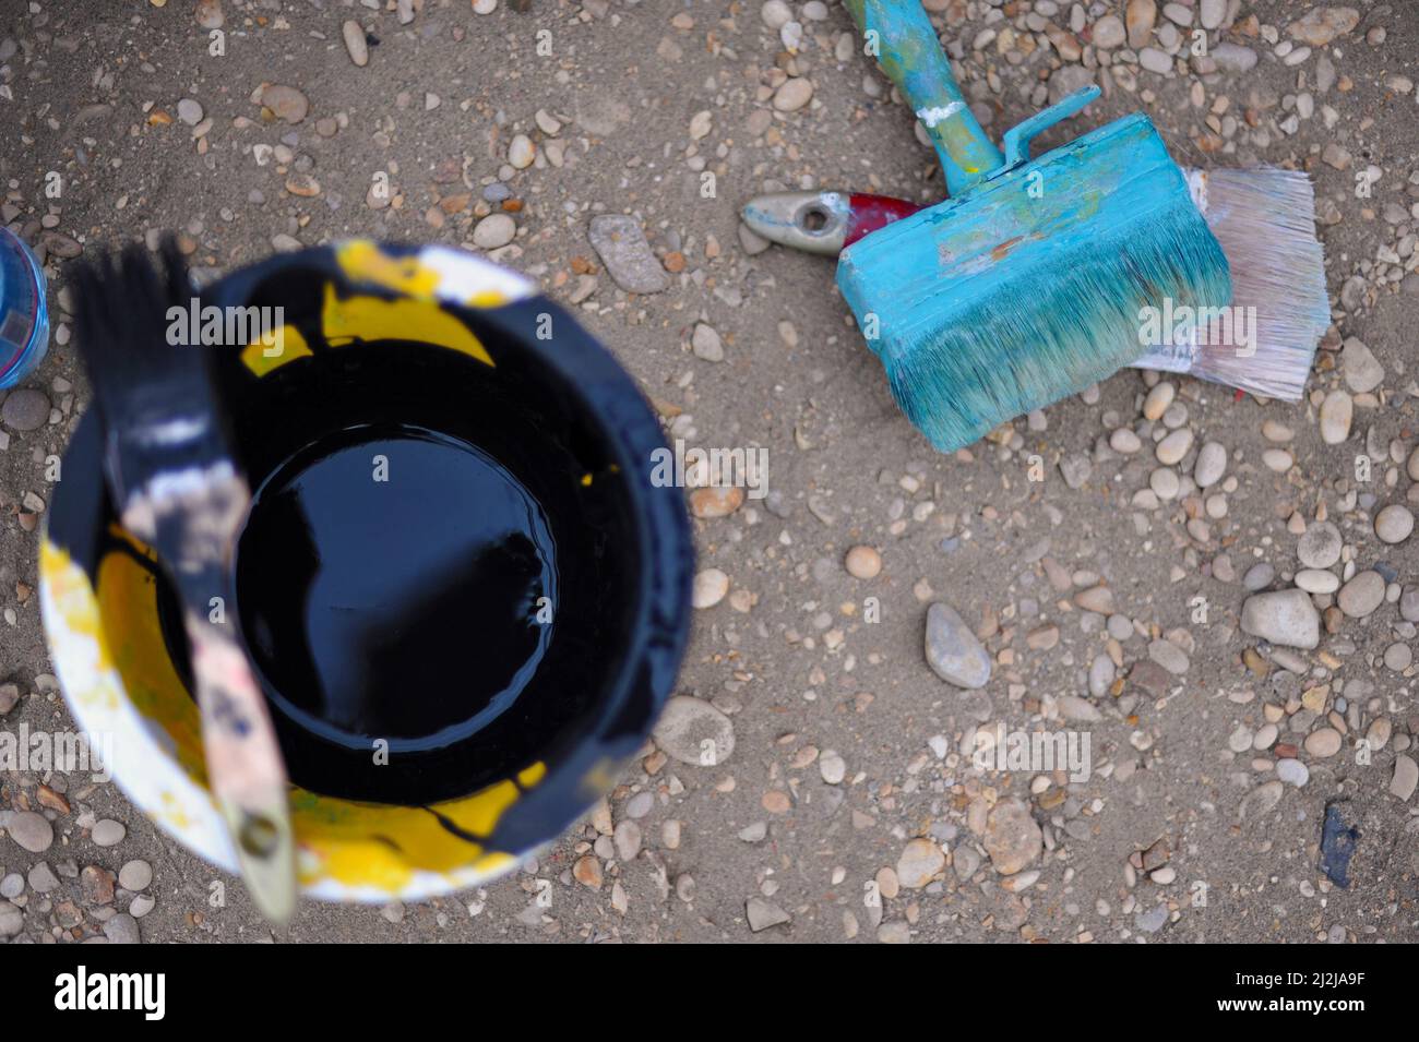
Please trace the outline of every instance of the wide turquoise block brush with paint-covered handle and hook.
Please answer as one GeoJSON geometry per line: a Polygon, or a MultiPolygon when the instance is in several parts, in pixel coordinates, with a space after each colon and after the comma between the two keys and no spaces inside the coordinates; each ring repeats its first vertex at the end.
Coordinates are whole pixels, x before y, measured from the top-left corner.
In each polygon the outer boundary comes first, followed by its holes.
{"type": "Polygon", "coordinates": [[[951,198],[847,247],[837,285],[893,396],[941,451],[1142,354],[1147,315],[1225,308],[1222,247],[1135,113],[1030,159],[1090,86],[985,136],[917,0],[844,0],[935,145],[951,198]]]}

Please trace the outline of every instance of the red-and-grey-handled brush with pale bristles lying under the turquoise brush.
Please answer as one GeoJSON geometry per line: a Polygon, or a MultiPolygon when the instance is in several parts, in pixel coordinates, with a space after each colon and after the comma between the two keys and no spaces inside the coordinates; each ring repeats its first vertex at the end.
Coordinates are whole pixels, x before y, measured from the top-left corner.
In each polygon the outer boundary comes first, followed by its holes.
{"type": "MultiPolygon", "coordinates": [[[[1230,330],[1195,323],[1183,336],[1144,337],[1132,369],[1189,373],[1266,398],[1298,401],[1330,325],[1325,259],[1315,238],[1315,196],[1298,170],[1183,169],[1193,203],[1232,271],[1230,330]],[[1230,332],[1230,335],[1227,335],[1230,332]]],[[[751,231],[824,257],[922,207],[849,191],[782,191],[744,207],[751,231]]],[[[1141,319],[1144,316],[1139,316],[1141,319]]],[[[1144,333],[1147,323],[1141,322],[1144,333]]]]}

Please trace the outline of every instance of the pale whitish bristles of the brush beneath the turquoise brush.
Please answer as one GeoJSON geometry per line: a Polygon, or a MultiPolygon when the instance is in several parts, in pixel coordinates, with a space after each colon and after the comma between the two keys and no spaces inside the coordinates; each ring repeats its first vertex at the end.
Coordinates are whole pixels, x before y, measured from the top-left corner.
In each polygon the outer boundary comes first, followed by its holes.
{"type": "Polygon", "coordinates": [[[1249,394],[1298,401],[1330,326],[1325,257],[1315,238],[1315,193],[1298,170],[1202,174],[1208,227],[1232,268],[1233,308],[1254,309],[1253,353],[1205,343],[1193,376],[1249,394]]]}

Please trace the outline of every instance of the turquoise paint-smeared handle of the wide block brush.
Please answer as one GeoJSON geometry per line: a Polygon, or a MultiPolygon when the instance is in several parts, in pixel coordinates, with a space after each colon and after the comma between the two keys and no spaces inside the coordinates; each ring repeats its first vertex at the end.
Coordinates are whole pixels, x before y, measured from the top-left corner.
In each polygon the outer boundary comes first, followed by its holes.
{"type": "Polygon", "coordinates": [[[951,60],[920,0],[843,0],[863,38],[876,44],[877,62],[907,98],[927,129],[946,191],[958,196],[1005,163],[956,86],[951,60]]]}

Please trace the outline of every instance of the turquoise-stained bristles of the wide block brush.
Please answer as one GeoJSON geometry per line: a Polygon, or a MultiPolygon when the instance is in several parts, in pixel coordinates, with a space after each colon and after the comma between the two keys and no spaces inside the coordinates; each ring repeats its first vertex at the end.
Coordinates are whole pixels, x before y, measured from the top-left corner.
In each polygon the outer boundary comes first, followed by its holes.
{"type": "Polygon", "coordinates": [[[1142,352],[1139,312],[1216,305],[1230,296],[1226,258],[1198,235],[1186,193],[1142,233],[1124,227],[1078,250],[1060,278],[1010,279],[883,352],[893,396],[941,451],[975,442],[1003,420],[1078,393],[1142,352]],[[1142,233],[1142,234],[1139,234],[1142,233]]]}

